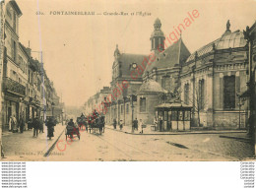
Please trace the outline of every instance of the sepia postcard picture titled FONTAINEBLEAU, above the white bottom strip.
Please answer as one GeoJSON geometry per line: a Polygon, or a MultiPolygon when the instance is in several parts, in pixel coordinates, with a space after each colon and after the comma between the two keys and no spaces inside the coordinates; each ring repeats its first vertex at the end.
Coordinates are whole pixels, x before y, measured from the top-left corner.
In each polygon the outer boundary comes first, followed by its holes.
{"type": "Polygon", "coordinates": [[[0,5],[2,161],[255,159],[255,0],[0,5]]]}

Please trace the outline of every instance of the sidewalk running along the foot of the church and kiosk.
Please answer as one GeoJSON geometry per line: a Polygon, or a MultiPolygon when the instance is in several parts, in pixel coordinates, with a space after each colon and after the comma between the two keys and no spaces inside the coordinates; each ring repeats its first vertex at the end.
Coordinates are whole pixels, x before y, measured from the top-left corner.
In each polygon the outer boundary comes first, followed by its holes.
{"type": "Polygon", "coordinates": [[[105,125],[106,129],[112,129],[115,131],[123,132],[126,134],[132,135],[187,135],[187,134],[226,134],[226,133],[246,133],[245,130],[187,130],[187,131],[153,131],[151,130],[151,126],[147,125],[146,128],[143,129],[143,134],[141,134],[141,128],[138,131],[132,132],[132,127],[130,126],[123,126],[123,129],[120,130],[119,126],[116,126],[116,129],[113,128],[113,125],[105,125]]]}

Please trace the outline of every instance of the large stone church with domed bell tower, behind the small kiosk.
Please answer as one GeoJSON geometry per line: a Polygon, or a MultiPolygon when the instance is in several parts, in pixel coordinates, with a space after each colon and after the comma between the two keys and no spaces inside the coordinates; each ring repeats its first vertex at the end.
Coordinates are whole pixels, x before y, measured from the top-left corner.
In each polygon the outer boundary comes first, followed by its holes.
{"type": "MultiPolygon", "coordinates": [[[[190,53],[181,35],[164,48],[160,19],[150,36],[151,54],[114,51],[111,90],[122,82],[129,87],[108,105],[105,120],[131,126],[134,119],[154,124],[160,104],[191,107],[191,127],[237,129],[246,127],[248,50],[242,31],[224,33],[190,53]]],[[[171,125],[170,125],[171,126],[171,125]]]]}

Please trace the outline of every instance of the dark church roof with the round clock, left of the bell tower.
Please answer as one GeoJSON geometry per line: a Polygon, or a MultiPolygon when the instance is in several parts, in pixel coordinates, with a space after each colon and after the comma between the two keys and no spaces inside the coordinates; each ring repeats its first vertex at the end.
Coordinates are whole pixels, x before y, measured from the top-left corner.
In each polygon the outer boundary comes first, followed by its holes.
{"type": "MultiPolygon", "coordinates": [[[[147,57],[146,55],[140,55],[140,54],[128,54],[128,53],[121,53],[118,62],[121,63],[121,74],[122,77],[131,77],[132,71],[132,64],[136,63],[137,65],[142,66],[143,59],[147,57]]],[[[141,78],[142,76],[138,76],[138,78],[141,78]]]]}

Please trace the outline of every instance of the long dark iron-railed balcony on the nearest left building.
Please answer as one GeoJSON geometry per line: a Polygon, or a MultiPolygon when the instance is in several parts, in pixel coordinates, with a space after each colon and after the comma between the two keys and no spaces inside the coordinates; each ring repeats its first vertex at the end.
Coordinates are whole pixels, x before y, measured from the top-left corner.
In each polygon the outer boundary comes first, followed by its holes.
{"type": "Polygon", "coordinates": [[[4,92],[16,94],[22,97],[26,95],[26,87],[10,78],[4,78],[3,90],[4,92]]]}

